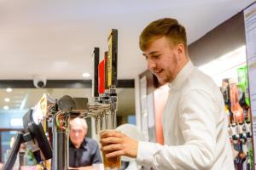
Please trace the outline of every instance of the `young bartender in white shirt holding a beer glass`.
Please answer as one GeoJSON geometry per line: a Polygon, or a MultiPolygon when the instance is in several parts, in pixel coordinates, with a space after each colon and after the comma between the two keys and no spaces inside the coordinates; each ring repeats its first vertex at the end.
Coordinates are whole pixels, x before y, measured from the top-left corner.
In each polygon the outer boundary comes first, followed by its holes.
{"type": "Polygon", "coordinates": [[[162,116],[165,144],[137,141],[123,133],[102,133],[107,156],[136,157],[154,169],[234,169],[218,87],[189,60],[186,31],[177,20],[149,24],[140,36],[148,69],[170,91],[162,116]]]}

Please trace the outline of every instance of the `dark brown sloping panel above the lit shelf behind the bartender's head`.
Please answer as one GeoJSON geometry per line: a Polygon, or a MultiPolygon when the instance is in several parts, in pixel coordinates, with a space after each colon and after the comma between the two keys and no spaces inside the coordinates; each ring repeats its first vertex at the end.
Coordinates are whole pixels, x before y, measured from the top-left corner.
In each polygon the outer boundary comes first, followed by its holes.
{"type": "Polygon", "coordinates": [[[189,57],[195,65],[199,66],[245,44],[244,17],[240,12],[189,44],[189,57]]]}

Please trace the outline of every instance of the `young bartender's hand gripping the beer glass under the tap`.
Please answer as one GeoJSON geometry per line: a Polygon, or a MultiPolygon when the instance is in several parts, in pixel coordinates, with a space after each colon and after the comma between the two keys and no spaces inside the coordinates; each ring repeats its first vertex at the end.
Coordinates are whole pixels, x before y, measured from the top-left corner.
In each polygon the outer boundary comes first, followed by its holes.
{"type": "Polygon", "coordinates": [[[102,151],[109,152],[106,157],[129,156],[137,157],[138,141],[124,133],[106,131],[101,133],[102,151]]]}

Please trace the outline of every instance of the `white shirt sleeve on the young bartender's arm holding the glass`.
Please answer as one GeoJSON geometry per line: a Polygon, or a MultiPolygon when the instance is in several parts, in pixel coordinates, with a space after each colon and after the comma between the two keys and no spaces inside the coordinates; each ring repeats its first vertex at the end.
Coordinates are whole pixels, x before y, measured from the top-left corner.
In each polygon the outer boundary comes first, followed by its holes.
{"type": "MultiPolygon", "coordinates": [[[[211,95],[205,91],[192,90],[189,94],[183,95],[178,105],[179,119],[177,121],[185,143],[183,145],[160,145],[139,142],[138,164],[148,165],[155,169],[208,169],[212,167],[217,138],[215,107],[211,95]]],[[[167,128],[167,125],[164,126],[167,128]]]]}

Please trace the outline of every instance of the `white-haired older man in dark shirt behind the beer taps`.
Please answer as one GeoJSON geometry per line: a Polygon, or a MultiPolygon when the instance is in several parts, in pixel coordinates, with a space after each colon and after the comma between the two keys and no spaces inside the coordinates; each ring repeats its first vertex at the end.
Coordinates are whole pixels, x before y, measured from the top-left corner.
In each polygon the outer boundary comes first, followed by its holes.
{"type": "Polygon", "coordinates": [[[87,129],[87,123],[83,118],[77,117],[70,121],[69,167],[92,169],[92,164],[102,163],[96,140],[85,138],[87,129]]]}

